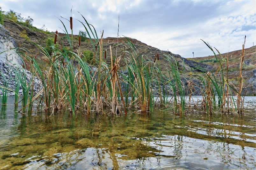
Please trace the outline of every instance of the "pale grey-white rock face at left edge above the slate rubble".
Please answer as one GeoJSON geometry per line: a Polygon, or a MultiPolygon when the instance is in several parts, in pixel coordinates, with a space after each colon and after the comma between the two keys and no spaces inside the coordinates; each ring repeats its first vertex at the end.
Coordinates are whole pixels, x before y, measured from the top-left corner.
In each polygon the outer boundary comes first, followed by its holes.
{"type": "Polygon", "coordinates": [[[4,70],[4,64],[21,64],[22,60],[16,53],[16,42],[10,32],[0,24],[0,70],[4,70]]]}

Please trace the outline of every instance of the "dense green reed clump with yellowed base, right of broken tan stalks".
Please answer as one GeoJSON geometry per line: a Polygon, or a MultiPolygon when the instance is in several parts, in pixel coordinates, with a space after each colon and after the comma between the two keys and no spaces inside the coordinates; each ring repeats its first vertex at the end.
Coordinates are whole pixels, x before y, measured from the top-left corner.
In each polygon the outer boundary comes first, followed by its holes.
{"type": "Polygon", "coordinates": [[[124,80],[129,84],[126,86],[125,97],[128,97],[127,91],[131,90],[130,106],[138,106],[142,113],[152,109],[152,90],[151,90],[151,76],[150,69],[148,69],[149,60],[145,60],[143,56],[138,54],[134,44],[128,38],[124,42],[129,46],[131,52],[127,51],[130,56],[126,60],[126,68],[128,70],[128,77],[122,75],[124,80]]]}

